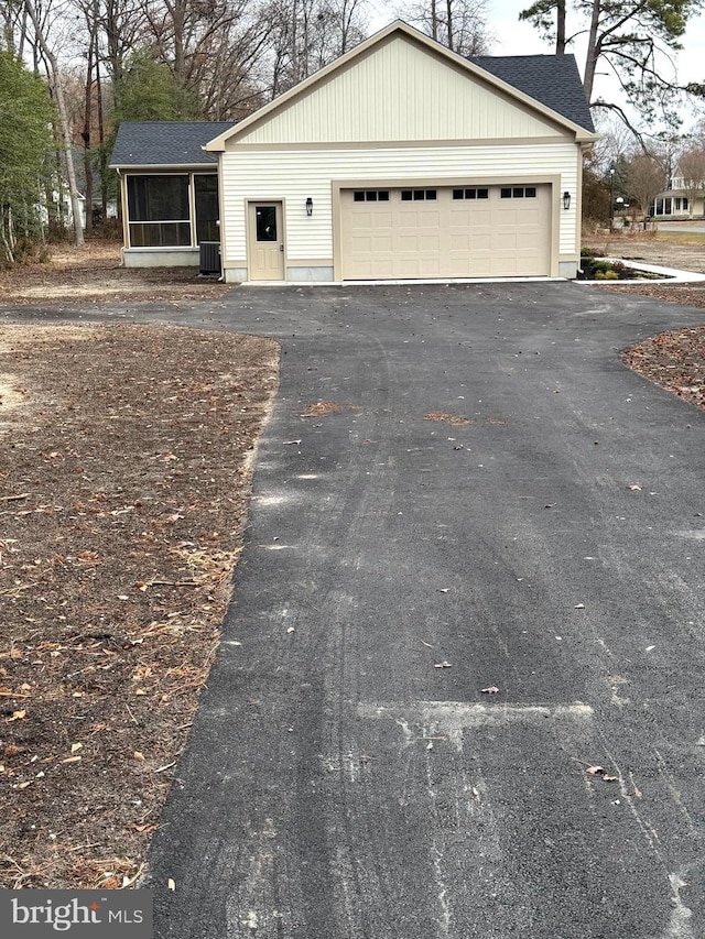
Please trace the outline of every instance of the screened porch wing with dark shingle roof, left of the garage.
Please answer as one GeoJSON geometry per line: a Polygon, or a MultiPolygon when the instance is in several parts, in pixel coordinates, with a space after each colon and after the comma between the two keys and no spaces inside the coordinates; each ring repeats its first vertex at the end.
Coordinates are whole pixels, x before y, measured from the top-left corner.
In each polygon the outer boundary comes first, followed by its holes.
{"type": "Polygon", "coordinates": [[[232,121],[124,122],[110,166],[120,176],[127,267],[199,263],[202,242],[220,241],[218,160],[204,150],[232,121]]]}

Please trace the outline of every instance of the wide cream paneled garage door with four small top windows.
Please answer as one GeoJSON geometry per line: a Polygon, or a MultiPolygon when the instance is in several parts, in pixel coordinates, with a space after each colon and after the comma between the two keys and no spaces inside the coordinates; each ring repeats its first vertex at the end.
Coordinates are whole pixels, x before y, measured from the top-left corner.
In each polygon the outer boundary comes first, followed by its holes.
{"type": "Polygon", "coordinates": [[[551,187],[344,189],[345,280],[551,273],[551,187]]]}

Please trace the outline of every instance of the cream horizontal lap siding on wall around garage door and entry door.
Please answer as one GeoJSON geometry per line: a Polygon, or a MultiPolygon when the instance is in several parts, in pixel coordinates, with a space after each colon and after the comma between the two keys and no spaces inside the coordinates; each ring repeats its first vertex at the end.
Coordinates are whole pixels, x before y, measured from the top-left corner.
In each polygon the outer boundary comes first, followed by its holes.
{"type": "Polygon", "coordinates": [[[558,254],[576,254],[577,173],[579,149],[573,142],[492,146],[375,146],[370,149],[242,150],[221,154],[225,266],[247,256],[246,201],[282,199],[286,262],[329,259],[333,263],[333,189],[354,181],[370,186],[402,185],[404,181],[434,186],[482,183],[519,184],[555,177],[558,254]],[[563,192],[571,208],[560,206],[563,192]],[[313,216],[305,203],[313,199],[313,216]]]}

